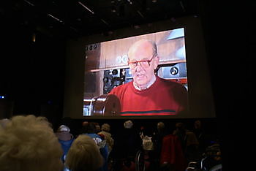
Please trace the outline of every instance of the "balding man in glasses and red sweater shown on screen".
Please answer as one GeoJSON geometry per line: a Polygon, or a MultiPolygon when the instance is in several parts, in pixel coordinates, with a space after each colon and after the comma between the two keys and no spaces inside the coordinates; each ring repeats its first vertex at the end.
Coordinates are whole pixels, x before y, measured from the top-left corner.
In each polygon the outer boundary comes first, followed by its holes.
{"type": "Polygon", "coordinates": [[[128,50],[128,65],[133,80],[117,86],[120,115],[181,115],[187,111],[187,89],[179,83],[155,75],[159,64],[157,45],[140,39],[128,50]]]}

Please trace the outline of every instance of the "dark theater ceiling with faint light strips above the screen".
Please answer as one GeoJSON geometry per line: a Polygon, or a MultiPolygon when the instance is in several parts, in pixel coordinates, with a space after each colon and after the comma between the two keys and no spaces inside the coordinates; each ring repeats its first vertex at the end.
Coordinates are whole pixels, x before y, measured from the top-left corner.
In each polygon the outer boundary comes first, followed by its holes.
{"type": "Polygon", "coordinates": [[[65,39],[197,13],[197,0],[10,0],[0,6],[7,24],[65,39]]]}

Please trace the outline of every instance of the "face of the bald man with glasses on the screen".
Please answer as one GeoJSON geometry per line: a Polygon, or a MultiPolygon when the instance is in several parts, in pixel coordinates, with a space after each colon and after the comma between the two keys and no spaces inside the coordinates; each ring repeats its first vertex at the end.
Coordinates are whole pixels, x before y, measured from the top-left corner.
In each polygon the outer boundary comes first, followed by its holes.
{"type": "Polygon", "coordinates": [[[154,77],[154,69],[156,69],[158,65],[158,57],[153,57],[152,45],[148,42],[142,42],[132,47],[132,49],[129,50],[128,56],[129,62],[146,61],[147,63],[148,60],[149,66],[143,66],[141,62],[137,63],[135,67],[130,66],[135,83],[140,86],[140,88],[146,88],[152,77],[154,77]]]}

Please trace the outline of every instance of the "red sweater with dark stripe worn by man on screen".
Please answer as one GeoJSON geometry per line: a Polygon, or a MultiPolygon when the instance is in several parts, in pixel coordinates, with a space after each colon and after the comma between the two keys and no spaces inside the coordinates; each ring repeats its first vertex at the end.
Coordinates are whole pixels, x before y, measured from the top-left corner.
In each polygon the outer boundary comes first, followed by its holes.
{"type": "Polygon", "coordinates": [[[160,77],[146,90],[138,91],[131,81],[110,94],[120,100],[120,115],[177,115],[187,107],[187,89],[160,77]]]}

